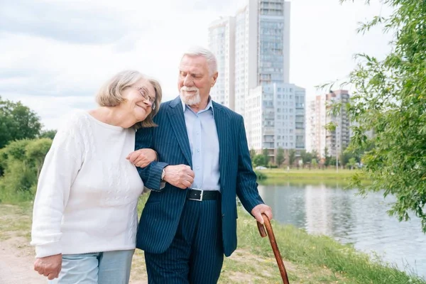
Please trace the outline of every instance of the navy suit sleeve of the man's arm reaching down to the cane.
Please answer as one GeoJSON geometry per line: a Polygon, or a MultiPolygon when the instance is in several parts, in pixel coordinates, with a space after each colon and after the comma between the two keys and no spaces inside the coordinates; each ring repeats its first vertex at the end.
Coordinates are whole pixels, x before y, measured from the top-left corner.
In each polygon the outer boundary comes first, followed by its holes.
{"type": "Polygon", "coordinates": [[[258,193],[256,173],[251,167],[249,146],[247,145],[246,130],[244,120],[241,119],[239,126],[239,153],[238,153],[238,173],[236,177],[236,195],[247,212],[258,204],[263,204],[263,200],[258,193]]]}

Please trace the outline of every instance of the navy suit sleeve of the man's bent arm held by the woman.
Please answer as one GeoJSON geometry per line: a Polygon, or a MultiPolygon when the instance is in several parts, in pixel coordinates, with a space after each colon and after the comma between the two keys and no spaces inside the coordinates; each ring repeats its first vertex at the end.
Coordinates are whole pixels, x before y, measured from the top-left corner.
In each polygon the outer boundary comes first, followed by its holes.
{"type": "MultiPolygon", "coordinates": [[[[154,149],[153,131],[153,127],[142,128],[136,131],[135,150],[142,148],[154,149]]],[[[168,163],[153,161],[145,168],[137,168],[143,185],[153,191],[163,190],[161,186],[161,172],[166,165],[168,165],[168,163]]]]}

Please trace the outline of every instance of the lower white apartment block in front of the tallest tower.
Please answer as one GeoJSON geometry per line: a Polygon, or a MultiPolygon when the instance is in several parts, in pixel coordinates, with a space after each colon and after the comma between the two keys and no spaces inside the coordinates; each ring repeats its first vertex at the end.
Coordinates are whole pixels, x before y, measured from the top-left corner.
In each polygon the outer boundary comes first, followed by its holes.
{"type": "Polygon", "coordinates": [[[295,84],[263,84],[246,98],[249,148],[268,149],[271,161],[278,148],[305,149],[305,89],[295,84]]]}

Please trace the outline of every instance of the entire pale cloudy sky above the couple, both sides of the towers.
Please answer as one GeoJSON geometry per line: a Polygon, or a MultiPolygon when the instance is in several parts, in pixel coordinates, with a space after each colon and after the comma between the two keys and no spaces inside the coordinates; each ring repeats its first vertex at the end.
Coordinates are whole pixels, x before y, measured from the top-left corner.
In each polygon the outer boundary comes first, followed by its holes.
{"type": "MultiPolygon", "coordinates": [[[[390,13],[379,0],[292,0],[290,82],[305,87],[344,78],[355,53],[383,58],[391,35],[359,35],[360,21],[390,13]]],[[[75,109],[95,107],[111,75],[136,69],[157,78],[165,100],[178,94],[181,53],[207,47],[209,23],[244,0],[0,0],[0,96],[38,113],[46,129],[75,109]]]]}

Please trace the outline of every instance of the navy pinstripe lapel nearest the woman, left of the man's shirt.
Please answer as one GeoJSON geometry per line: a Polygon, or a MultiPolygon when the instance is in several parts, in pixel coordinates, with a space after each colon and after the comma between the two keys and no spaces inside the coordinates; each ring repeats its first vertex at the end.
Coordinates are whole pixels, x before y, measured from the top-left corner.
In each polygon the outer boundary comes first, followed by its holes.
{"type": "Polygon", "coordinates": [[[180,149],[182,150],[188,165],[190,165],[192,168],[190,141],[188,140],[185,116],[183,115],[182,102],[180,102],[179,97],[170,103],[168,118],[170,119],[170,124],[172,124],[172,129],[175,132],[175,136],[178,139],[180,149]]]}

